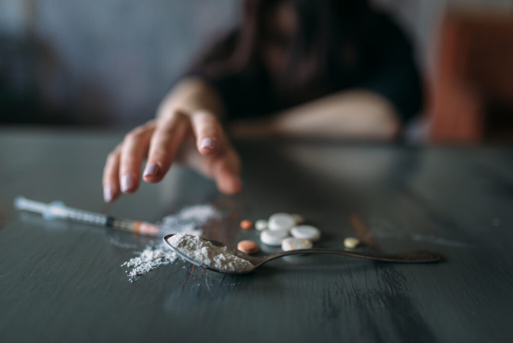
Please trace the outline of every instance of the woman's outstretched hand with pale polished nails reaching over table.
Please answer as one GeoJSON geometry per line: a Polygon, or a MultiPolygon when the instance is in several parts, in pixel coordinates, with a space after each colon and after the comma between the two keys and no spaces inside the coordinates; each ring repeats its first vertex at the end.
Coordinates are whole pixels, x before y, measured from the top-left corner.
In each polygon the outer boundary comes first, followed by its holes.
{"type": "Polygon", "coordinates": [[[217,117],[210,111],[173,111],[137,126],[109,154],[103,170],[104,199],[110,202],[123,193],[134,193],[141,179],[161,181],[174,161],[184,162],[214,179],[225,194],[242,189],[240,158],[230,145],[217,117]]]}

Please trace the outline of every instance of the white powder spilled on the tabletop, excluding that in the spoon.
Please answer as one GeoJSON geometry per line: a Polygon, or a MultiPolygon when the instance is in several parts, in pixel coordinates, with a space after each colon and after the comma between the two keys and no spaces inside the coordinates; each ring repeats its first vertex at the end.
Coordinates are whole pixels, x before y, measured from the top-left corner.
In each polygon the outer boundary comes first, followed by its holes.
{"type": "MultiPolygon", "coordinates": [[[[186,207],[175,215],[164,217],[161,222],[156,224],[161,230],[169,233],[201,235],[204,224],[211,219],[220,217],[221,213],[212,205],[195,205],[186,207]]],[[[131,268],[131,270],[126,271],[130,282],[161,265],[173,263],[178,258],[178,255],[164,242],[150,244],[146,246],[145,250],[136,254],[137,256],[121,265],[131,268]]]]}

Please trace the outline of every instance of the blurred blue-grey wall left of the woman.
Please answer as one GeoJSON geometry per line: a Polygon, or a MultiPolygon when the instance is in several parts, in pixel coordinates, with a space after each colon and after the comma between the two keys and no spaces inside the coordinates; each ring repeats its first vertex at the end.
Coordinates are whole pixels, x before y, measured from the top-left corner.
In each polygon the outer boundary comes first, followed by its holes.
{"type": "Polygon", "coordinates": [[[153,117],[194,53],[233,25],[235,3],[0,0],[10,56],[0,63],[14,92],[36,88],[44,106],[72,122],[132,126],[153,117]]]}

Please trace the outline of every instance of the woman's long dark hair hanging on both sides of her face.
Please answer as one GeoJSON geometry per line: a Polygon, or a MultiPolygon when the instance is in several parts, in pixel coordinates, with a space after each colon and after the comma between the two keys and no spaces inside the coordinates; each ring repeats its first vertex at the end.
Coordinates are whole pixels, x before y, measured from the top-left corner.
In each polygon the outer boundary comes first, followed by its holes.
{"type": "Polygon", "coordinates": [[[280,80],[276,88],[301,100],[333,90],[339,82],[333,78],[350,73],[353,50],[371,26],[374,12],[366,0],[246,0],[239,26],[210,47],[193,69],[211,78],[261,70],[266,20],[283,2],[295,9],[298,32],[286,70],[274,78],[280,80]]]}

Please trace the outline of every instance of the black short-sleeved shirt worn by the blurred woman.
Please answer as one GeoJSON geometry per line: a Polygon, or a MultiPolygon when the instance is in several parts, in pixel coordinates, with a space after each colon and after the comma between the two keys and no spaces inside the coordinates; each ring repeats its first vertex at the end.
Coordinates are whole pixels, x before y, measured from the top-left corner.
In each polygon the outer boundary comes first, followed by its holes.
{"type": "MultiPolygon", "coordinates": [[[[342,74],[334,73],[334,81],[324,94],[349,89],[366,89],[381,94],[395,107],[401,121],[407,122],[421,109],[422,89],[413,50],[405,34],[387,15],[379,14],[364,42],[356,42],[350,55],[352,64],[342,74]]],[[[341,64],[346,63],[341,59],[341,64]]],[[[281,99],[272,91],[264,68],[240,72],[225,77],[208,77],[205,73],[190,71],[186,75],[199,76],[218,90],[227,120],[254,118],[299,105],[281,99]]],[[[312,113],[314,115],[314,113],[312,113]]]]}

